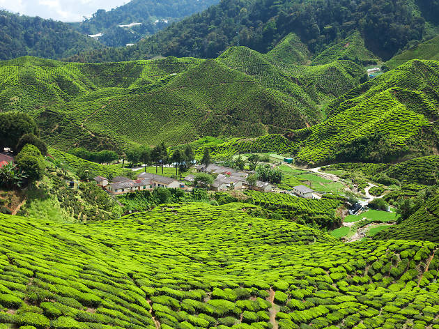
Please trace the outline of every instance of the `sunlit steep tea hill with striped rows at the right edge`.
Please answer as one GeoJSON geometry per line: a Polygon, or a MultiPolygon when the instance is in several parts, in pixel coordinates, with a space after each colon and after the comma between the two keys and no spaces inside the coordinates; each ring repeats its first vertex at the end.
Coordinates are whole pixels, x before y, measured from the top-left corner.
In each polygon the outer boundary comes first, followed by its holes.
{"type": "Polygon", "coordinates": [[[300,162],[387,162],[438,144],[439,62],[410,61],[328,105],[330,118],[288,134],[300,162]]]}

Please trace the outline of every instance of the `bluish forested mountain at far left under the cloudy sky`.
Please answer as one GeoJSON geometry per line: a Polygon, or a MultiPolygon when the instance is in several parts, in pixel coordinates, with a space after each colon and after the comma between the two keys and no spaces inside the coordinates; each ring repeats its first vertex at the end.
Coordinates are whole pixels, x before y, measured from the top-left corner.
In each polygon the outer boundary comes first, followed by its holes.
{"type": "Polygon", "coordinates": [[[90,49],[102,48],[68,24],[20,16],[0,10],[0,60],[20,56],[61,59],[90,49]]]}

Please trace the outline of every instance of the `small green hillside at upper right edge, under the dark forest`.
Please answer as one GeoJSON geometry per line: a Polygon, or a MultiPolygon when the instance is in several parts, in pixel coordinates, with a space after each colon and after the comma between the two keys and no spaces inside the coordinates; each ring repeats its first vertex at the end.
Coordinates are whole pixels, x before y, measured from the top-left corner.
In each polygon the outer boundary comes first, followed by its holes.
{"type": "Polygon", "coordinates": [[[406,61],[412,59],[430,59],[433,61],[439,60],[439,36],[424,43],[419,43],[401,54],[397,54],[392,59],[385,63],[385,67],[392,70],[406,61]]]}

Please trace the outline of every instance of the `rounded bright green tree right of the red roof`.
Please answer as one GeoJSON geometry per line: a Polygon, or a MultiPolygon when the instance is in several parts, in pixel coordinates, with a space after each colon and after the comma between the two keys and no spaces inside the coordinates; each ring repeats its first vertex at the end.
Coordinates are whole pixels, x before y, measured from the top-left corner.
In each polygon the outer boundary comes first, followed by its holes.
{"type": "Polygon", "coordinates": [[[36,146],[26,144],[15,160],[17,167],[26,174],[29,183],[43,178],[46,164],[36,146]]]}

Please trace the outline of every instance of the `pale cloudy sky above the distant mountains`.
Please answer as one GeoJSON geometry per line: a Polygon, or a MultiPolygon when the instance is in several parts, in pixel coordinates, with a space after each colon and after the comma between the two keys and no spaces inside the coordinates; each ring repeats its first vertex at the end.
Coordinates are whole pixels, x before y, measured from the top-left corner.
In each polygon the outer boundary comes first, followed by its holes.
{"type": "Polygon", "coordinates": [[[0,8],[28,16],[52,18],[63,22],[81,22],[98,9],[109,10],[130,0],[0,0],[0,8]]]}

